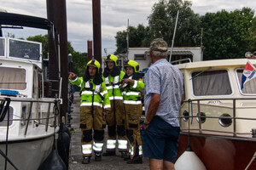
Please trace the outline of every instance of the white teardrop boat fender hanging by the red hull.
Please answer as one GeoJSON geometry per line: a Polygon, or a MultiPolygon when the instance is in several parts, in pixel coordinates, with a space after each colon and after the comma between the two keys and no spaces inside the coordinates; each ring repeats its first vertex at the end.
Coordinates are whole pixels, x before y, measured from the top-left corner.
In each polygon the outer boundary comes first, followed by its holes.
{"type": "Polygon", "coordinates": [[[207,170],[194,151],[184,151],[174,164],[176,170],[207,170]]]}

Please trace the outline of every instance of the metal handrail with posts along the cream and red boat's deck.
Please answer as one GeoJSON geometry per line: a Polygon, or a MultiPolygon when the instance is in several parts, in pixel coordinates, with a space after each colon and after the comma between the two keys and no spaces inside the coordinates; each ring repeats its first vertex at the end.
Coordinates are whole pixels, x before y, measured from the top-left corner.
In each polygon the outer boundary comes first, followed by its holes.
{"type": "MultiPolygon", "coordinates": [[[[256,118],[247,118],[247,117],[236,117],[236,101],[237,100],[252,100],[252,99],[255,99],[256,98],[218,98],[218,99],[188,99],[188,100],[185,100],[184,102],[193,102],[193,101],[196,101],[197,102],[197,108],[198,108],[198,113],[201,113],[201,108],[200,108],[200,105],[201,105],[201,100],[232,100],[232,112],[233,112],[233,116],[232,117],[223,117],[223,116],[207,116],[207,118],[222,118],[222,119],[230,119],[232,118],[233,120],[233,137],[236,137],[236,120],[237,119],[241,119],[241,120],[252,120],[252,121],[256,121],[256,118]]],[[[199,122],[199,133],[202,133],[202,128],[201,128],[201,114],[198,114],[198,116],[179,116],[178,118],[188,118],[188,117],[196,117],[198,118],[198,122],[199,122]]],[[[224,132],[222,131],[223,133],[230,133],[230,132],[224,132]]]]}

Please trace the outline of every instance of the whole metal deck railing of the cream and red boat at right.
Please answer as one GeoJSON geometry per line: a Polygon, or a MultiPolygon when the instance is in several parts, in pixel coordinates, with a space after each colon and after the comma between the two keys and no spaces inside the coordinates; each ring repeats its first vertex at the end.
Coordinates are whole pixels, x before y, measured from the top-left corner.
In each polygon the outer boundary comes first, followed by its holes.
{"type": "MultiPolygon", "coordinates": [[[[231,100],[232,101],[232,115],[231,117],[224,117],[224,116],[201,116],[201,114],[197,114],[197,116],[179,116],[178,118],[179,119],[189,119],[189,118],[197,118],[198,119],[198,129],[199,130],[199,133],[202,133],[202,131],[215,131],[215,132],[218,132],[218,133],[230,133],[228,131],[218,131],[218,130],[207,130],[207,129],[203,129],[201,127],[201,118],[204,117],[204,118],[212,118],[212,119],[232,119],[232,124],[233,124],[233,129],[232,129],[232,134],[233,134],[233,137],[236,137],[237,136],[237,133],[236,133],[236,120],[250,120],[250,121],[255,121],[255,127],[256,127],[256,116],[255,117],[242,117],[242,116],[236,116],[236,101],[238,100],[254,100],[255,103],[256,103],[256,98],[229,98],[229,99],[223,99],[223,98],[219,98],[219,99],[188,99],[188,100],[185,100],[185,102],[188,102],[188,103],[192,103],[192,102],[196,102],[196,104],[194,105],[197,105],[197,109],[198,109],[198,113],[201,113],[201,101],[219,101],[219,100],[231,100]]],[[[255,106],[254,106],[255,107],[255,106]]],[[[256,110],[255,110],[256,112],[256,110]]],[[[189,130],[189,129],[184,129],[184,130],[189,130]]],[[[192,130],[192,129],[190,129],[192,130]]],[[[252,129],[252,133],[253,133],[253,129],[252,129]]],[[[255,135],[255,134],[254,134],[255,135]]]]}

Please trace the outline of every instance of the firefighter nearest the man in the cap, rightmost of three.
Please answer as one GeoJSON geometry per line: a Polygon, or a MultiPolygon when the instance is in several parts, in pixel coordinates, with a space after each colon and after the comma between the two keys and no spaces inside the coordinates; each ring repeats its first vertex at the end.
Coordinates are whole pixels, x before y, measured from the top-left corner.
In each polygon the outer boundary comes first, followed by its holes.
{"type": "Polygon", "coordinates": [[[129,139],[129,164],[143,163],[143,142],[139,124],[143,113],[141,91],[144,82],[139,74],[139,65],[134,60],[125,64],[125,77],[123,79],[123,97],[125,105],[125,128],[129,139]]]}

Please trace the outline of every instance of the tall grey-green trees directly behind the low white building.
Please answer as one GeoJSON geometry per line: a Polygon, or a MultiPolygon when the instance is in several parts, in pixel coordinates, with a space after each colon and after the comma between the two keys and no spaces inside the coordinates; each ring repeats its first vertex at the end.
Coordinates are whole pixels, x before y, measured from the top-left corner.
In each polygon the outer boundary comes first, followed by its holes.
{"type": "MultiPolygon", "coordinates": [[[[175,46],[199,46],[201,35],[201,20],[194,14],[190,1],[160,0],[154,3],[152,14],[148,16],[148,25],[129,26],[129,47],[148,47],[150,42],[157,37],[162,37],[171,46],[173,31],[177,18],[177,32],[175,46]]],[[[126,32],[118,31],[116,34],[118,54],[126,49],[126,32]]]]}

